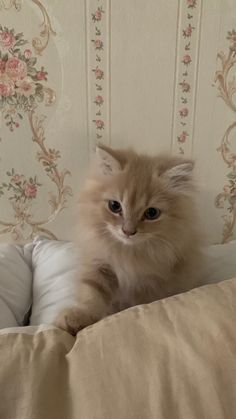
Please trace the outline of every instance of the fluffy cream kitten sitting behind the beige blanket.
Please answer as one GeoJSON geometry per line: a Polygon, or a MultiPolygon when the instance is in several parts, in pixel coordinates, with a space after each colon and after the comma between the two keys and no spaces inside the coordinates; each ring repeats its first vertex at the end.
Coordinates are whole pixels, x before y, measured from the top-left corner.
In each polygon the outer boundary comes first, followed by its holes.
{"type": "Polygon", "coordinates": [[[193,161],[99,146],[80,195],[78,305],[57,326],[80,329],[124,308],[200,285],[193,161]]]}

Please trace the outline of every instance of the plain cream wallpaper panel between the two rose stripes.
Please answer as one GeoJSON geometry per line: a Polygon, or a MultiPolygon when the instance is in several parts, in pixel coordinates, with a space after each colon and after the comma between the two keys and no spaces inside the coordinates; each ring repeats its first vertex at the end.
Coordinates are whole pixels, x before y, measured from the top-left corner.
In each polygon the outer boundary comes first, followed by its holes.
{"type": "Polygon", "coordinates": [[[171,144],[178,2],[111,1],[111,143],[171,144]]]}

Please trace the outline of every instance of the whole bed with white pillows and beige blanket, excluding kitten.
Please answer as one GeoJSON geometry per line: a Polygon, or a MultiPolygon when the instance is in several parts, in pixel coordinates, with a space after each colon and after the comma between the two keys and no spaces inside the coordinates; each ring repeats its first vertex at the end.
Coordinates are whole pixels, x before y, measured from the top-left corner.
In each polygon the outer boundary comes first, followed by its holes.
{"type": "Polygon", "coordinates": [[[208,285],[107,317],[75,338],[51,324],[73,303],[75,246],[42,237],[1,245],[2,322],[9,310],[0,330],[1,419],[233,418],[235,249],[207,249],[208,285]]]}

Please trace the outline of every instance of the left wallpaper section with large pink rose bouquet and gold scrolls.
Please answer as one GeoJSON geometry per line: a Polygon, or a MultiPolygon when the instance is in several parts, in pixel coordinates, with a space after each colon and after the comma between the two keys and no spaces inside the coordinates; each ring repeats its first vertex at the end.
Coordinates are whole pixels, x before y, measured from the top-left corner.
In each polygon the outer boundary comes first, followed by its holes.
{"type": "Polygon", "coordinates": [[[70,6],[80,25],[65,14],[63,2],[1,2],[3,241],[69,238],[74,230],[89,149],[85,10],[83,2],[70,6]]]}

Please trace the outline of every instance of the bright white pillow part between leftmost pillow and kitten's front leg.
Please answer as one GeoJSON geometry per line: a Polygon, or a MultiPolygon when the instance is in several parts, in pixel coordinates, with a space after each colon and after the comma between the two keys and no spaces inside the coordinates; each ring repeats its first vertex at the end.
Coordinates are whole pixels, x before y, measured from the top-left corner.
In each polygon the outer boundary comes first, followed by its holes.
{"type": "Polygon", "coordinates": [[[52,323],[75,304],[78,253],[75,244],[38,238],[32,252],[33,306],[30,325],[52,323]]]}

